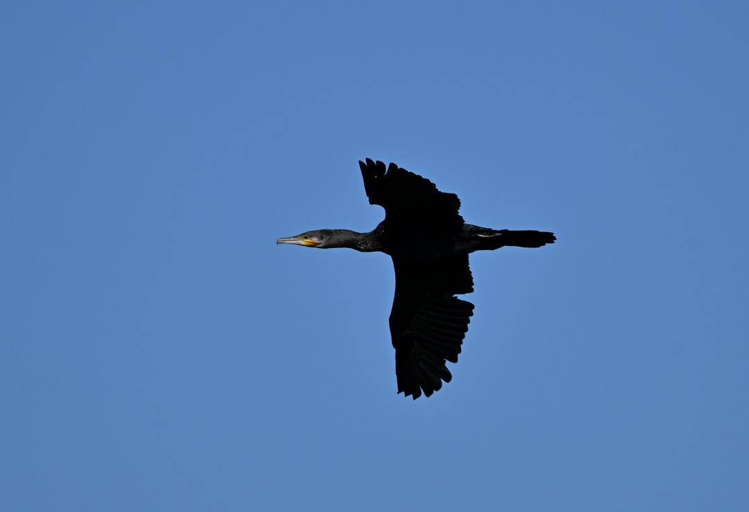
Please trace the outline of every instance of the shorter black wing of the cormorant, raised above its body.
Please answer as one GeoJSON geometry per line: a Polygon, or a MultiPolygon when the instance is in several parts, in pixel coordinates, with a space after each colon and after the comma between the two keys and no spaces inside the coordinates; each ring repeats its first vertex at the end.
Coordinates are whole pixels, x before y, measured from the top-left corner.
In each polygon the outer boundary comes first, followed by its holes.
{"type": "Polygon", "coordinates": [[[383,162],[368,158],[359,166],[369,204],[385,208],[389,232],[401,239],[398,242],[404,249],[413,240],[407,234],[416,231],[422,235],[421,240],[428,240],[430,235],[452,237],[460,231],[463,217],[458,214],[461,201],[457,195],[440,192],[431,181],[394,163],[385,170],[383,162]]]}

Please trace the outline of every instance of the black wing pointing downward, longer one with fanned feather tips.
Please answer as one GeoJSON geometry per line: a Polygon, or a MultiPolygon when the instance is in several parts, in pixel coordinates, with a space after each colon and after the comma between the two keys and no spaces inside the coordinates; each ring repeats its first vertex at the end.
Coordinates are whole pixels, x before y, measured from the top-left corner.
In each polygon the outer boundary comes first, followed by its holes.
{"type": "Polygon", "coordinates": [[[392,256],[395,298],[390,334],[398,393],[431,396],[449,383],[445,361],[458,362],[473,304],[456,293],[473,291],[466,253],[438,257],[392,256]]]}

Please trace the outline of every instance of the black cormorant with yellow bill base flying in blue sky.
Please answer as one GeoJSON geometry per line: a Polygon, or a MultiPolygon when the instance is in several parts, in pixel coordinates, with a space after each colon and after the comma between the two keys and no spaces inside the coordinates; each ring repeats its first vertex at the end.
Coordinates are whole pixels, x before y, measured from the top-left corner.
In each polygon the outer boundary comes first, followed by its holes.
{"type": "Polygon", "coordinates": [[[430,397],[452,380],[446,362],[458,362],[473,316],[473,304],[456,297],[473,292],[468,255],[506,246],[542,247],[557,237],[467,224],[458,213],[458,195],[440,192],[419,174],[369,158],[359,166],[369,204],[385,209],[374,230],[319,229],[276,243],[389,255],[395,269],[389,327],[398,394],[430,397]]]}

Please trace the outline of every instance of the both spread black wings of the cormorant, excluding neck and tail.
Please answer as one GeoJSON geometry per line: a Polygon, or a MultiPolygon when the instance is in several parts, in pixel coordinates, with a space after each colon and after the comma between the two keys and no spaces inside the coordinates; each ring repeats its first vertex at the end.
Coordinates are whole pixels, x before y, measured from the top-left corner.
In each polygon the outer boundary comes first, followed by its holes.
{"type": "Polygon", "coordinates": [[[359,162],[369,204],[385,209],[386,252],[395,266],[390,334],[398,393],[430,396],[452,379],[473,304],[455,294],[473,291],[466,253],[453,254],[464,224],[455,194],[391,163],[359,162]]]}

